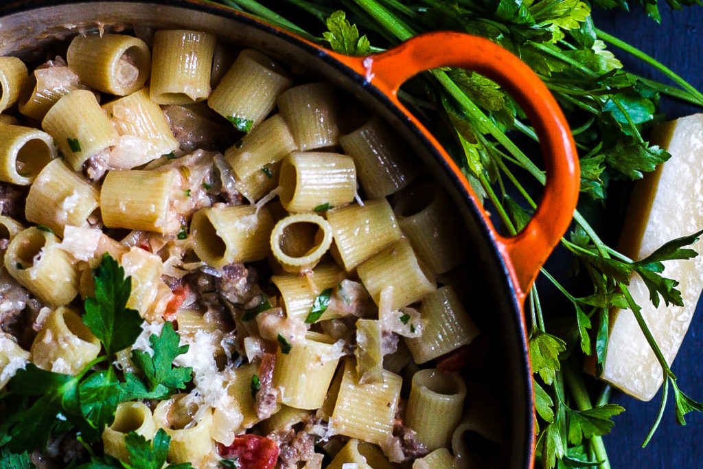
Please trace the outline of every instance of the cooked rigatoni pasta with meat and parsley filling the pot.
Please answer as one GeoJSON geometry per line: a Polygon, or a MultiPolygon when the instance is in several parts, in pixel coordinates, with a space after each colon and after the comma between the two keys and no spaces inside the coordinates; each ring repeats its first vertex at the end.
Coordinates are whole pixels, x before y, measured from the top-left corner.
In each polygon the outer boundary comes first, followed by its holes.
{"type": "Polygon", "coordinates": [[[356,123],[332,84],[254,49],[235,59],[209,32],[138,32],[75,35],[67,66],[31,75],[0,58],[0,179],[27,186],[0,217],[0,309],[18,318],[0,333],[0,393],[32,373],[72,393],[28,454],[472,461],[475,394],[437,371],[479,333],[450,280],[463,232],[446,194],[379,117],[340,136],[356,123]],[[4,77],[26,81],[18,98],[4,77]],[[18,125],[32,120],[43,130],[18,125]]]}

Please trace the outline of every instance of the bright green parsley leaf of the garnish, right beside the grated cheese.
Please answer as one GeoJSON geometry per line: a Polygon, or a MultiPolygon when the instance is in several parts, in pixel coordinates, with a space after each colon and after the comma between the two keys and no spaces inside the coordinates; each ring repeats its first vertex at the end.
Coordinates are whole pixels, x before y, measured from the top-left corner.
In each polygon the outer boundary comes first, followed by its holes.
{"type": "Polygon", "coordinates": [[[193,378],[193,368],[190,366],[173,366],[176,356],[188,352],[188,345],[179,347],[179,341],[180,336],[174,330],[173,323],[167,321],[160,336],[152,334],[149,338],[153,356],[143,350],[132,350],[132,361],[144,373],[148,392],[157,391],[159,386],[166,387],[169,393],[176,392],[184,389],[193,378]]]}

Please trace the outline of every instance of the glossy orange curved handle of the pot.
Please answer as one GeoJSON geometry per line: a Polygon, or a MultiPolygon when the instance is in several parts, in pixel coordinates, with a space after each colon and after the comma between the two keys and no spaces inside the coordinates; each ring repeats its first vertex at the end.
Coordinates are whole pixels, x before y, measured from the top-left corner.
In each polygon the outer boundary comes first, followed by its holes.
{"type": "Polygon", "coordinates": [[[513,237],[499,235],[485,210],[483,213],[494,232],[498,248],[512,266],[512,276],[521,289],[521,299],[524,299],[539,269],[568,229],[579,195],[579,159],[574,140],[559,105],[545,84],[519,58],[501,46],[487,39],[453,32],[422,34],[394,49],[366,58],[334,55],[389,96],[418,125],[437,146],[475,201],[475,194],[460,169],[429,131],[399,102],[397,91],[407,79],[423,70],[460,67],[494,80],[522,106],[539,137],[545,160],[547,178],[541,203],[525,229],[513,237]]]}

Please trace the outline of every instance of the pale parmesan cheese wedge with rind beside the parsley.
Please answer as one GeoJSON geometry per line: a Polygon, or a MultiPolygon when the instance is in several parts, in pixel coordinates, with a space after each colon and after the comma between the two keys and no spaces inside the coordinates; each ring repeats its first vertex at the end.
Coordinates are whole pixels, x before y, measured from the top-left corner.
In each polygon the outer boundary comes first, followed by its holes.
{"type": "MultiPolygon", "coordinates": [[[[620,247],[632,259],[643,259],[667,241],[703,228],[703,114],[662,124],[652,142],[669,150],[671,159],[634,189],[620,247]]],[[[703,252],[703,242],[692,248],[703,252]]],[[[664,276],[680,282],[685,306],[666,306],[662,301],[655,308],[637,274],[629,290],[671,364],[703,289],[703,256],[666,261],[664,267],[664,276]]],[[[643,401],[652,399],[662,385],[662,368],[629,309],[610,311],[610,339],[600,378],[643,401]]]]}

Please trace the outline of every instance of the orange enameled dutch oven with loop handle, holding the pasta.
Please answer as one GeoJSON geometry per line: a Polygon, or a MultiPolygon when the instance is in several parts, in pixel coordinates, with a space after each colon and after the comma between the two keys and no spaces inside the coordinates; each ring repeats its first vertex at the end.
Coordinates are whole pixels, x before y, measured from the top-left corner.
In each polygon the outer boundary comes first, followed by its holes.
{"type": "MultiPolygon", "coordinates": [[[[451,193],[467,228],[473,275],[472,314],[493,331],[494,373],[501,383],[505,419],[504,461],[510,468],[534,464],[531,370],[523,316],[525,294],[572,219],[579,166],[569,128],[546,86],[515,56],[484,39],[436,32],[415,37],[368,58],[347,57],[316,46],[260,20],[196,1],[148,3],[66,0],[18,1],[0,10],[0,55],[28,56],[56,39],[104,26],[203,30],[297,64],[361,99],[391,122],[423,165],[451,193]],[[441,66],[475,70],[494,79],[522,106],[543,148],[546,186],[527,227],[506,238],[494,229],[460,169],[396,96],[418,72],[441,66]],[[496,347],[497,345],[497,347],[496,347]]],[[[497,412],[496,412],[497,413],[497,412]]]]}

